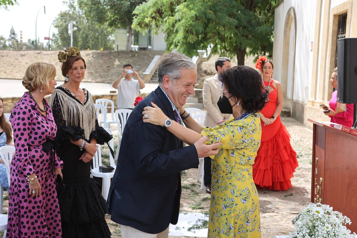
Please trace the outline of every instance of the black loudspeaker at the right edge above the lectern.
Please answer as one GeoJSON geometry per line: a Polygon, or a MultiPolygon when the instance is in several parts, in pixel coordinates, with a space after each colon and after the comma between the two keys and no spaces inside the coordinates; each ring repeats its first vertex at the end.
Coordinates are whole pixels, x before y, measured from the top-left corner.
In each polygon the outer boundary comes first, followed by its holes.
{"type": "Polygon", "coordinates": [[[357,103],[357,38],[337,40],[337,101],[357,103]]]}

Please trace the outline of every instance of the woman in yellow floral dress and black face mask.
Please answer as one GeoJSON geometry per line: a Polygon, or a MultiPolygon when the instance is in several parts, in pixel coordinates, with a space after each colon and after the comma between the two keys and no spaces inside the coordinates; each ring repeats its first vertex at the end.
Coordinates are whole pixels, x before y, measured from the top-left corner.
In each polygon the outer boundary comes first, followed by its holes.
{"type": "MultiPolygon", "coordinates": [[[[256,112],[265,106],[268,91],[262,86],[260,74],[248,66],[225,70],[221,80],[223,90],[217,105],[222,113],[232,114],[233,117],[215,127],[202,128],[189,113],[180,108],[186,127],[172,121],[167,130],[191,145],[202,136],[207,137],[206,144],[222,142],[218,154],[211,156],[208,238],[259,238],[259,201],[252,164],[261,139],[260,118],[256,112]]],[[[175,80],[171,83],[175,83],[175,80]]],[[[144,122],[164,126],[168,117],[154,103],[152,105],[154,107],[144,108],[144,122]]]]}

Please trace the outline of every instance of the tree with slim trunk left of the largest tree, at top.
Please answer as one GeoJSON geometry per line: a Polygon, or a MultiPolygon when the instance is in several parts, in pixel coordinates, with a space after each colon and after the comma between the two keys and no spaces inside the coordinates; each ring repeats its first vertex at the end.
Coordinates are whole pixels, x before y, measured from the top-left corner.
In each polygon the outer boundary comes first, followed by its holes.
{"type": "Polygon", "coordinates": [[[134,30],[131,28],[135,7],[144,0],[78,0],[78,4],[84,10],[88,19],[99,24],[108,24],[113,28],[127,28],[126,50],[130,50],[132,35],[134,30]]]}

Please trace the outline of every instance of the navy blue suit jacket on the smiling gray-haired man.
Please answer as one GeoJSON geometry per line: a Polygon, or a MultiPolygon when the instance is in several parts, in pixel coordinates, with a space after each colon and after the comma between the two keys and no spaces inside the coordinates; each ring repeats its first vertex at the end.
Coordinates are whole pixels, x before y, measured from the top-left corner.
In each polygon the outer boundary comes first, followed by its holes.
{"type": "Polygon", "coordinates": [[[142,111],[151,101],[175,121],[160,87],[136,105],[124,128],[107,211],[116,223],[156,234],[177,224],[181,171],[197,168],[199,162],[194,145],[183,147],[165,127],[142,121],[142,111]]]}

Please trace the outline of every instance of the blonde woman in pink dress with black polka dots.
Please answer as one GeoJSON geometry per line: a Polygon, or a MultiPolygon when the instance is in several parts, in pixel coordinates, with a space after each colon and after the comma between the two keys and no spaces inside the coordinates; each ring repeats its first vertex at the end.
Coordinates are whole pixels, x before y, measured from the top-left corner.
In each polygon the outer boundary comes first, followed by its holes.
{"type": "Polygon", "coordinates": [[[62,237],[55,177],[62,177],[62,162],[53,139],[57,127],[44,96],[54,92],[56,69],[34,63],[22,84],[29,92],[12,109],[15,155],[9,189],[9,220],[6,237],[62,237]]]}

